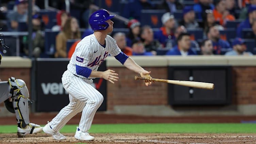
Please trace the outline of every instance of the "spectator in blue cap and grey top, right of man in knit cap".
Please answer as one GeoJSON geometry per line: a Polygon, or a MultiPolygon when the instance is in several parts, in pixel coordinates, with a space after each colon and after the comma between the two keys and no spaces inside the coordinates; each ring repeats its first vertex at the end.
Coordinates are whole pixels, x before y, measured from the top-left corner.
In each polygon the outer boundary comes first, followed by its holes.
{"type": "Polygon", "coordinates": [[[195,11],[192,6],[185,6],[183,9],[183,19],[179,22],[180,26],[185,26],[187,29],[199,28],[198,22],[195,20],[195,11]]]}

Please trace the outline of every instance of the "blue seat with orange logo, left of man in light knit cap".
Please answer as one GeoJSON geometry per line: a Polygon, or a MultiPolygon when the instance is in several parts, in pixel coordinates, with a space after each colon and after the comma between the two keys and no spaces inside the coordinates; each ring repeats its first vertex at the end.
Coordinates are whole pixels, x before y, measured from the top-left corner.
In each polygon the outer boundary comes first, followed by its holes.
{"type": "Polygon", "coordinates": [[[141,25],[149,25],[152,28],[162,27],[161,17],[165,12],[165,10],[142,10],[141,25]]]}

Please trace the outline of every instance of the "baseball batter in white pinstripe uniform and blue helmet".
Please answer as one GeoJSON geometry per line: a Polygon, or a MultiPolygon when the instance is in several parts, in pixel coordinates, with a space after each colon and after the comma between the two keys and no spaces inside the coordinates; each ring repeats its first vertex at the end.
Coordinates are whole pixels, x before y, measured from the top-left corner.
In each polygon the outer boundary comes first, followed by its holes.
{"type": "MultiPolygon", "coordinates": [[[[79,126],[76,128],[75,138],[78,140],[94,140],[88,130],[97,109],[103,102],[103,96],[91,84],[93,78],[104,78],[111,83],[118,80],[118,74],[114,70],[97,71],[100,64],[110,54],[114,56],[128,69],[140,74],[142,77],[150,77],[150,72],[136,64],[130,57],[124,54],[116,45],[116,41],[108,33],[113,31],[113,18],[106,10],[94,12],[89,23],[94,33],[84,37],[77,44],[67,70],[62,75],[62,84],[69,94],[70,103],[64,107],[51,122],[43,128],[56,140],[64,140],[66,137],[59,131],[77,113],[82,112],[79,126]]],[[[151,81],[145,81],[146,86],[151,81]]]]}

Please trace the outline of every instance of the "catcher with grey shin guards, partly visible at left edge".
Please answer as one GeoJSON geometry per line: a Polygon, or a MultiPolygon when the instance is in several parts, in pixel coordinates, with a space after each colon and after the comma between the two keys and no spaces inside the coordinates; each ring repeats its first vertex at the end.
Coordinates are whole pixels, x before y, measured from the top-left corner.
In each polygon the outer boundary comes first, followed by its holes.
{"type": "MultiPolygon", "coordinates": [[[[4,38],[0,39],[0,48],[8,48],[1,41],[4,41],[4,38]]],[[[0,52],[0,65],[1,59],[0,52]]],[[[9,78],[8,81],[1,81],[0,79],[0,103],[4,102],[7,110],[16,114],[18,122],[17,135],[19,138],[23,138],[27,134],[43,131],[43,127],[29,122],[28,105],[30,100],[28,98],[28,88],[23,80],[15,79],[14,77],[9,78]]]]}

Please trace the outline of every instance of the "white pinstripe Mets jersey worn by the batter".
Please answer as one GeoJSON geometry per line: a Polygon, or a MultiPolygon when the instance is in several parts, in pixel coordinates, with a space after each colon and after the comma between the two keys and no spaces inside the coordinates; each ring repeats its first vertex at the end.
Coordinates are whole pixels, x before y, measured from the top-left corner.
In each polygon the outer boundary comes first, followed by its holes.
{"type": "Polygon", "coordinates": [[[81,78],[86,78],[76,73],[76,65],[97,70],[109,54],[116,56],[121,52],[121,49],[118,48],[116,41],[111,36],[107,35],[105,41],[106,48],[99,44],[94,34],[84,37],[77,44],[67,70],[81,78]]]}

